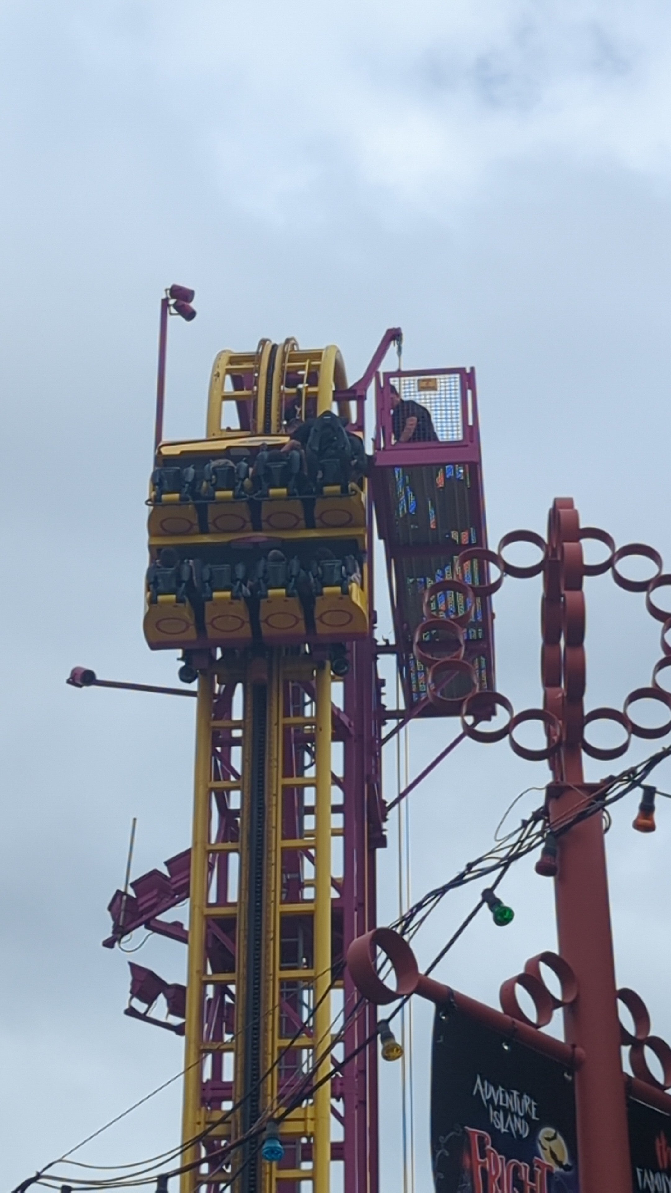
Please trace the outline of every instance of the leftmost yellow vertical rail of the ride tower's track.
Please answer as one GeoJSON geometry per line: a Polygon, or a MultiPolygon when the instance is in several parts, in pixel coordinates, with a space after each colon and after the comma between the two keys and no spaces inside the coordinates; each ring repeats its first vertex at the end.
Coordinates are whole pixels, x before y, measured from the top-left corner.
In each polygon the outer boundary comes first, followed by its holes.
{"type": "MultiPolygon", "coordinates": [[[[203,973],[205,970],[205,902],[208,883],[208,823],[211,779],[211,707],[213,676],[198,674],[198,704],[196,706],[196,760],[193,773],[193,835],[191,843],[191,907],[189,913],[189,959],[186,984],[186,1031],[184,1056],[183,1141],[192,1139],[202,1130],[201,1106],[201,1046],[203,1040],[203,973]]],[[[186,1149],[181,1162],[198,1158],[199,1145],[186,1149]]],[[[198,1174],[193,1169],[181,1176],[181,1193],[196,1188],[198,1174]]]]}

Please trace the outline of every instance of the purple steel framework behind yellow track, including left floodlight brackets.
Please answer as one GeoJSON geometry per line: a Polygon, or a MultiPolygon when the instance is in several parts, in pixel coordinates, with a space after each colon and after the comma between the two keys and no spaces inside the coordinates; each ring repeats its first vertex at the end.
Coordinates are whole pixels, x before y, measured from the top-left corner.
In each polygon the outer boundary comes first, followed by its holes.
{"type": "MultiPolygon", "coordinates": [[[[350,674],[344,681],[343,706],[332,707],[333,740],[343,744],[343,774],[333,775],[334,786],[343,795],[343,882],[333,898],[333,965],[339,966],[352,940],[371,931],[375,916],[375,851],[384,846],[384,809],[380,783],[380,733],[383,710],[381,686],[376,675],[375,645],[373,641],[352,643],[350,647],[350,674]]],[[[288,685],[285,713],[289,718],[301,718],[304,701],[314,694],[309,685],[288,685]]],[[[222,784],[240,779],[240,764],[235,750],[240,748],[240,730],[235,728],[233,698],[235,685],[221,687],[215,704],[215,716],[232,728],[222,728],[213,735],[213,774],[222,784]]],[[[304,750],[312,749],[314,733],[306,727],[289,725],[284,730],[284,774],[298,774],[303,765],[304,750]]],[[[289,789],[294,799],[302,799],[303,789],[289,789]]],[[[337,811],[337,806],[334,805],[337,811]]],[[[284,835],[300,835],[298,820],[302,808],[284,803],[284,835]],[[298,817],[298,820],[297,820],[298,817]]],[[[215,817],[214,840],[218,845],[234,846],[240,836],[240,808],[234,792],[223,787],[213,792],[215,817]]],[[[238,905],[234,892],[234,876],[230,872],[232,853],[222,851],[211,863],[210,886],[213,897],[222,907],[229,907],[228,916],[208,920],[207,956],[213,972],[235,975],[238,905]]],[[[112,932],[104,941],[113,948],[124,937],[138,928],[186,944],[189,935],[180,921],[166,920],[172,911],[189,898],[191,851],[185,849],[165,863],[164,870],[152,870],[131,883],[133,894],[117,890],[110,901],[112,932]]],[[[291,851],[283,851],[284,882],[291,903],[304,898],[301,876],[301,859],[291,851]]],[[[164,979],[144,966],[130,964],[130,1000],[125,1014],[184,1034],[186,989],[180,983],[164,979]],[[170,1018],[161,1019],[152,1010],[159,1000],[165,1001],[170,1018]]],[[[352,1007],[357,991],[349,971],[344,975],[344,1003],[352,1007]]],[[[289,995],[283,1003],[283,1014],[291,1032],[300,1024],[303,1008],[289,995]],[[293,1025],[293,1026],[291,1026],[293,1025]]],[[[344,1164],[344,1187],[347,1193],[375,1193],[377,1189],[377,1058],[375,1044],[376,1012],[367,1003],[346,1026],[343,1053],[345,1063],[332,1081],[332,1113],[343,1126],[343,1139],[332,1144],[332,1158],[344,1164]],[[373,1037],[373,1039],[370,1039],[373,1037]],[[368,1040],[368,1043],[365,1043],[368,1040]],[[362,1047],[362,1044],[364,1046],[362,1047]],[[346,1058],[350,1057],[347,1061],[346,1058]],[[338,1102],[341,1101],[341,1113],[338,1102]]],[[[202,1104],[208,1112],[226,1112],[234,1099],[234,1082],[226,1070],[224,1053],[216,1051],[216,1044],[226,1044],[235,1033],[235,982],[220,982],[205,996],[204,1038],[213,1045],[209,1069],[203,1073],[202,1104]]],[[[288,1030],[288,1034],[290,1034],[288,1030]]],[[[282,1083],[296,1083],[293,1062],[298,1063],[298,1050],[293,1057],[288,1051],[281,1074],[282,1083]]],[[[309,1145],[303,1144],[301,1161],[309,1161],[309,1145]],[[308,1150],[306,1150],[308,1149],[308,1150]]],[[[213,1152],[213,1162],[216,1155],[213,1152]]],[[[278,1170],[279,1175],[279,1170],[278,1170]]],[[[209,1189],[209,1185],[205,1183],[209,1189]]],[[[213,1191],[216,1185],[213,1183],[213,1191]]],[[[298,1193],[300,1182],[282,1181],[283,1193],[298,1193]]]]}

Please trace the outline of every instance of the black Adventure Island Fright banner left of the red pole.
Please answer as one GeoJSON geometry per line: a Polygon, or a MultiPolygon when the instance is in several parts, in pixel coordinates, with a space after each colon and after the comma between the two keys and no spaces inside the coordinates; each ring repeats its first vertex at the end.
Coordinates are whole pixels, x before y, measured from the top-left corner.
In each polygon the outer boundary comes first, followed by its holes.
{"type": "Polygon", "coordinates": [[[572,1075],[438,1008],[431,1152],[437,1193],[579,1193],[572,1075]]]}

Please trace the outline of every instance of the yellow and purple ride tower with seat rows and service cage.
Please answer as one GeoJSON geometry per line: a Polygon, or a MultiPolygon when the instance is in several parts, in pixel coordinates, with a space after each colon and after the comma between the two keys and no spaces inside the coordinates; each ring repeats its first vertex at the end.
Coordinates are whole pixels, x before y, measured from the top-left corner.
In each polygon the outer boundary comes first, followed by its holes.
{"type": "Polygon", "coordinates": [[[378,1189],[375,1008],[343,958],[376,923],[383,725],[457,715],[494,686],[490,601],[464,607],[461,591],[485,587],[487,567],[475,377],[380,373],[400,335],[353,385],[333,346],[221,352],[205,438],[158,435],[144,635],[197,681],[193,834],[166,871],[115,894],[105,944],[141,925],[187,944],[186,988],[131,964],[127,1012],[185,1034],[181,1193],[378,1189]],[[399,396],[430,412],[424,440],[396,441],[399,396]],[[374,633],[374,501],[392,645],[374,633]],[[383,705],[382,651],[405,709],[383,705]],[[186,898],[187,932],[162,919],[186,898]],[[149,1014],[161,995],[166,1021],[149,1014]]]}

